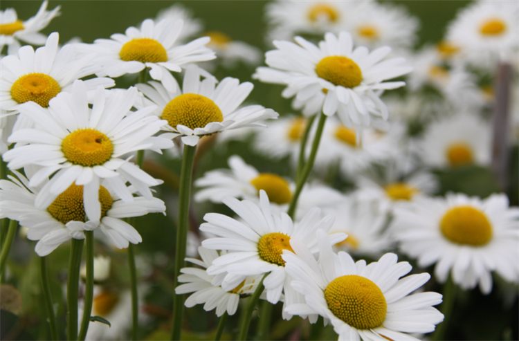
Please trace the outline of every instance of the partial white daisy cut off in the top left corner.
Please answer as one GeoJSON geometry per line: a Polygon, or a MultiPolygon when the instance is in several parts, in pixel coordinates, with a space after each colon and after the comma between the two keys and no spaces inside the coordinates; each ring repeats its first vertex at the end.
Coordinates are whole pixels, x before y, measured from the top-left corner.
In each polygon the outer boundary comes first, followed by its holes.
{"type": "Polygon", "coordinates": [[[31,45],[43,45],[47,39],[46,35],[39,33],[46,28],[52,19],[60,15],[60,6],[53,10],[46,10],[48,1],[44,1],[34,17],[26,21],[18,19],[14,8],[0,10],[0,53],[3,46],[8,46],[8,55],[15,55],[20,48],[20,42],[31,45]]]}

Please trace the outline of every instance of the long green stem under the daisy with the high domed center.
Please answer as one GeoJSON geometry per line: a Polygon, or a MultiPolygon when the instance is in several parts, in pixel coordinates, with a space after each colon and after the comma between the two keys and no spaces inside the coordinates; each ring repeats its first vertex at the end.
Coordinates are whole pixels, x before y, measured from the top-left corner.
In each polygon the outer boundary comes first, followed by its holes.
{"type": "MultiPolygon", "coordinates": [[[[176,253],[175,253],[175,288],[179,284],[180,270],[185,266],[185,246],[188,240],[189,228],[189,205],[191,196],[192,172],[194,154],[197,146],[184,145],[182,156],[182,170],[180,174],[179,190],[179,225],[176,228],[176,253]]],[[[184,308],[184,296],[176,295],[173,303],[173,326],[171,329],[171,340],[180,340],[182,329],[182,315],[184,308]]]]}

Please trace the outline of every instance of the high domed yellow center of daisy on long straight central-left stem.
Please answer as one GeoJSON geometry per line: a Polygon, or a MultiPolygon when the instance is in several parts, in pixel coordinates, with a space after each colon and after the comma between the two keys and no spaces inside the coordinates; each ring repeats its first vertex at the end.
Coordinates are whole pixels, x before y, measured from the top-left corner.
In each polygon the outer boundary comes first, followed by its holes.
{"type": "Polygon", "coordinates": [[[167,103],[162,112],[162,119],[170,127],[185,125],[190,129],[203,128],[210,122],[224,120],[220,108],[209,98],[196,93],[184,93],[167,103]]]}

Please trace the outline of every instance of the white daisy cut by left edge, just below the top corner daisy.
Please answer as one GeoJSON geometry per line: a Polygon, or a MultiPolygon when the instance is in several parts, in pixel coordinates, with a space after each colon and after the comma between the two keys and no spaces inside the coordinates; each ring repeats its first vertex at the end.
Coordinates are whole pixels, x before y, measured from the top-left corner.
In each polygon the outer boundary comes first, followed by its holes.
{"type": "MultiPolygon", "coordinates": [[[[15,114],[26,102],[48,108],[48,102],[59,93],[71,91],[75,80],[99,70],[92,62],[95,54],[78,58],[74,45],[60,48],[59,40],[60,35],[52,33],[45,46],[36,51],[32,46],[24,46],[17,55],[2,58],[0,109],[15,114]]],[[[106,77],[84,81],[86,90],[91,91],[90,97],[98,86],[109,88],[115,85],[113,80],[106,77]]]]}

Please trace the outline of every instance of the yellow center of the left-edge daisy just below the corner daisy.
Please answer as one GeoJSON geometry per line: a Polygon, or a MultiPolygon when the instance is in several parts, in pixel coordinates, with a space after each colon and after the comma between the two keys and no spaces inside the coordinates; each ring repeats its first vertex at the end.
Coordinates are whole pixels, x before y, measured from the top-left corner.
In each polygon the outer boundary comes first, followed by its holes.
{"type": "Polygon", "coordinates": [[[36,102],[48,107],[48,101],[55,98],[62,89],[56,80],[44,73],[29,73],[19,77],[11,86],[11,97],[18,103],[36,102]]]}

